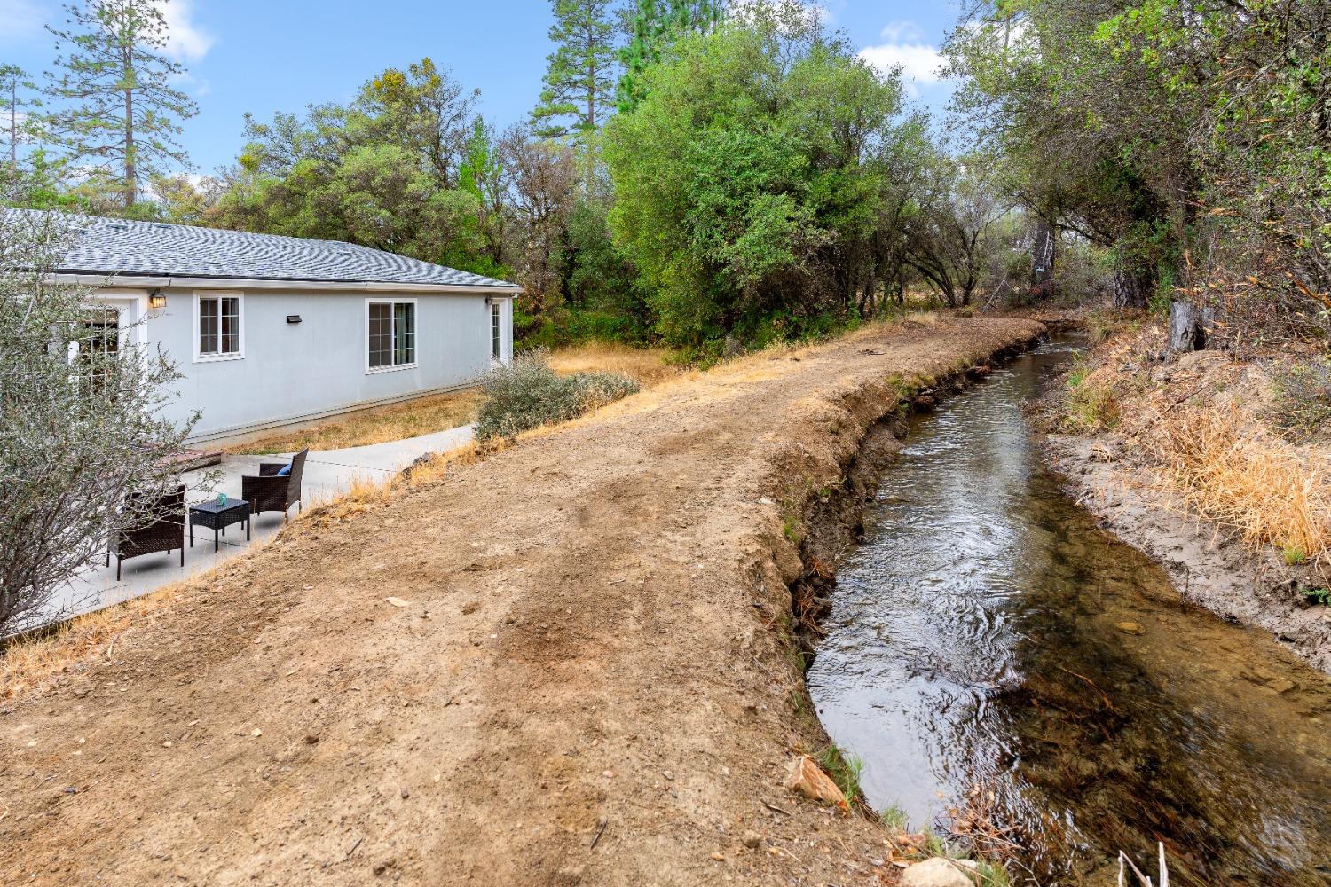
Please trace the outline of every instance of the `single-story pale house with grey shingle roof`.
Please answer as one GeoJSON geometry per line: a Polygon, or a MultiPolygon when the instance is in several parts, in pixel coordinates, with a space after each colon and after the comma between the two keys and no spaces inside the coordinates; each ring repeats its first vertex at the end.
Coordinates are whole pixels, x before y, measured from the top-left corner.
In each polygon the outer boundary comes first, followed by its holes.
{"type": "Polygon", "coordinates": [[[202,411],[193,444],[461,388],[512,355],[503,281],[331,241],[76,225],[52,277],[95,287],[108,347],[134,336],[174,360],[170,418],[202,411]]]}

